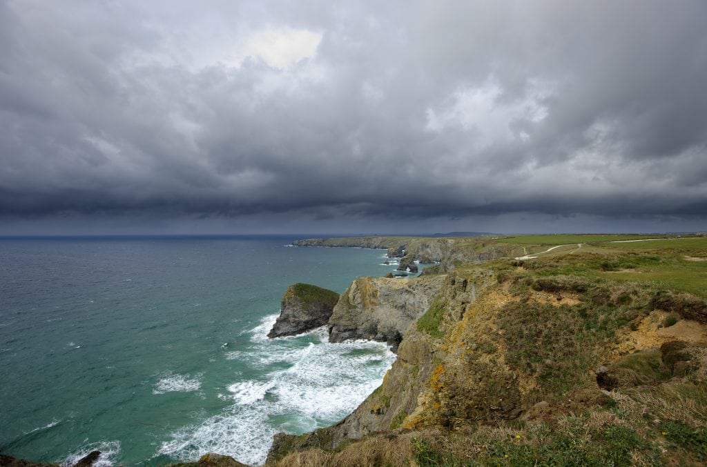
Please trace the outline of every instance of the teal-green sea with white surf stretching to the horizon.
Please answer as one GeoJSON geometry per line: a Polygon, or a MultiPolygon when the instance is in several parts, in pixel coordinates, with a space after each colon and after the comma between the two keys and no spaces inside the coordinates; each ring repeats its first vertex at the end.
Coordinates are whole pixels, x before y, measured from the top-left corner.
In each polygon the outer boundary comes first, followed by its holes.
{"type": "Polygon", "coordinates": [[[257,464],[275,432],[343,418],[392,365],[385,344],[266,334],[291,283],[343,292],[395,265],[384,250],[292,240],[0,239],[0,452],[257,464]]]}

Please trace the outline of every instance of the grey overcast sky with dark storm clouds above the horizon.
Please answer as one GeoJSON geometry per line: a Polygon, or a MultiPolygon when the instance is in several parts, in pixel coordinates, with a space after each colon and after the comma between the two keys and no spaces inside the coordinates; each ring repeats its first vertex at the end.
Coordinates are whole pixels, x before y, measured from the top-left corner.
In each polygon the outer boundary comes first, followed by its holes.
{"type": "Polygon", "coordinates": [[[707,230],[707,1],[0,0],[0,234],[707,230]]]}

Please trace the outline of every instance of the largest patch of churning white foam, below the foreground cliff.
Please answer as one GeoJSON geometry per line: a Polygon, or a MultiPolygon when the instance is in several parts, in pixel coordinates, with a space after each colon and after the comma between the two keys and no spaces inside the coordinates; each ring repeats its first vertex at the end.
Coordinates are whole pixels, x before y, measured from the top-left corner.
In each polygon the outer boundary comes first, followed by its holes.
{"type": "Polygon", "coordinates": [[[385,343],[328,343],[326,328],[300,336],[318,337],[306,346],[291,339],[262,338],[274,318],[264,318],[251,330],[250,351],[226,353],[226,358],[246,360],[263,369],[262,379],[228,385],[230,394],[219,397],[232,400],[233,405],[198,425],[177,430],[161,444],[158,454],[186,461],[219,452],[241,462],[262,464],[272,435],[301,433],[341,420],[380,384],[395,360],[385,343]]]}

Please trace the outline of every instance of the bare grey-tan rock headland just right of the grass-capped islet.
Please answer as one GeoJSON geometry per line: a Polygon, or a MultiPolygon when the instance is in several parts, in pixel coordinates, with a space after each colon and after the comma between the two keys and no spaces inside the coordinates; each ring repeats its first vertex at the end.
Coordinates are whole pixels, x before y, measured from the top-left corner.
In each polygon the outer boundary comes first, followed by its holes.
{"type": "Polygon", "coordinates": [[[334,307],[329,318],[329,342],[370,339],[397,349],[410,325],[439,292],[444,276],[358,278],[334,307]]]}

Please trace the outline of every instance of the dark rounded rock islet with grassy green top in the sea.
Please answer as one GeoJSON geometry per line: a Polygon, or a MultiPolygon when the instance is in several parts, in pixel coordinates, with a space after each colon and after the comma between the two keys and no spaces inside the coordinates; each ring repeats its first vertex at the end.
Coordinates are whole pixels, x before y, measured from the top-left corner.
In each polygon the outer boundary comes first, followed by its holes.
{"type": "Polygon", "coordinates": [[[316,285],[290,285],[280,307],[280,316],[268,333],[269,338],[294,336],[324,326],[339,301],[339,294],[316,285]]]}

